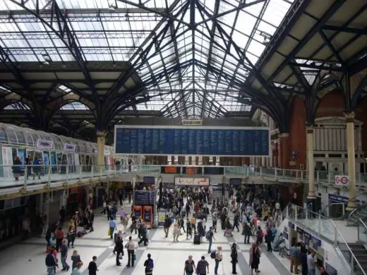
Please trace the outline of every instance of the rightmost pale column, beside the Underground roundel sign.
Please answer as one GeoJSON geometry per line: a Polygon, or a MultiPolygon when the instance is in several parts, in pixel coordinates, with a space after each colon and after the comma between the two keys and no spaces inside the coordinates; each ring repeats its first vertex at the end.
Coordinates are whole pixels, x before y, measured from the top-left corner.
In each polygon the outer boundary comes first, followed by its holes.
{"type": "Polygon", "coordinates": [[[347,149],[348,149],[348,176],[349,176],[349,202],[347,210],[356,208],[356,152],[354,150],[354,112],[345,114],[347,123],[347,149]]]}

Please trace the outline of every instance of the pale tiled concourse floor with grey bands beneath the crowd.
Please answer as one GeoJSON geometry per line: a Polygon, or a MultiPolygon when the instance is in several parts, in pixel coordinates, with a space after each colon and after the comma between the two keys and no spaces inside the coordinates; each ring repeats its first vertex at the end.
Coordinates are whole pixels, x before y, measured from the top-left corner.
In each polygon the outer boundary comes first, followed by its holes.
{"type": "MultiPolygon", "coordinates": [[[[127,208],[127,207],[126,207],[127,208]]],[[[207,225],[212,224],[209,220],[207,225]]],[[[122,229],[120,225],[119,228],[122,229]]],[[[152,255],[155,261],[155,269],[153,274],[183,274],[183,265],[188,255],[193,255],[195,262],[205,255],[210,264],[210,274],[214,274],[214,260],[210,259],[207,254],[207,242],[204,241],[200,245],[193,245],[192,240],[186,240],[186,235],[179,238],[179,243],[173,243],[172,231],[169,238],[164,237],[162,228],[149,231],[150,243],[148,247],[140,247],[136,251],[136,267],[127,268],[127,255],[121,261],[121,267],[115,264],[116,257],[112,254],[114,244],[107,236],[108,221],[106,216],[95,217],[95,231],[88,233],[83,238],[78,238],[75,243],[75,249],[78,250],[81,259],[84,262],[83,275],[88,274],[88,262],[93,255],[97,255],[100,275],[141,275],[144,274],[143,262],[147,258],[147,254],[152,255]]],[[[136,238],[133,235],[133,238],[136,238]]],[[[126,236],[126,239],[128,236],[126,236]]],[[[227,238],[223,236],[221,230],[215,234],[213,249],[218,245],[223,247],[223,261],[219,266],[220,275],[231,274],[230,263],[230,246],[233,242],[239,244],[239,264],[237,273],[240,275],[248,275],[248,250],[250,245],[243,244],[241,233],[234,233],[234,236],[227,238]]],[[[27,275],[43,275],[46,274],[44,267],[45,243],[43,238],[31,238],[20,245],[14,245],[0,252],[0,274],[27,274],[27,275]]],[[[69,250],[69,258],[73,250],[69,250]]],[[[265,251],[260,258],[260,271],[263,275],[287,275],[289,274],[289,265],[286,259],[278,259],[276,253],[265,251]]],[[[70,260],[68,261],[70,264],[70,260]]],[[[69,274],[69,272],[57,271],[56,274],[69,274]]]]}

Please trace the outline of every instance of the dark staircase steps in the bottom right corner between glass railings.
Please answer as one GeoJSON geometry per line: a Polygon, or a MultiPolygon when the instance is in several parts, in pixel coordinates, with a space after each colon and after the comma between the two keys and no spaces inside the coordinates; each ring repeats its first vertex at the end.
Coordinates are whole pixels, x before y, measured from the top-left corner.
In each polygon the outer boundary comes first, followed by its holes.
{"type": "Polygon", "coordinates": [[[351,254],[349,252],[349,249],[347,245],[344,243],[339,244],[339,249],[342,251],[342,254],[344,255],[345,259],[349,262],[351,265],[351,261],[354,259],[354,274],[356,275],[363,275],[367,274],[367,249],[366,246],[363,243],[348,243],[349,248],[351,252],[353,252],[354,257],[356,257],[359,264],[356,263],[356,260],[351,257],[351,254]],[[363,269],[363,271],[361,271],[363,269]]]}

